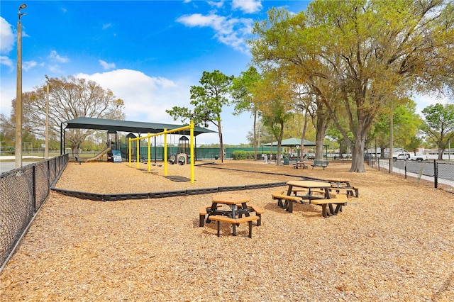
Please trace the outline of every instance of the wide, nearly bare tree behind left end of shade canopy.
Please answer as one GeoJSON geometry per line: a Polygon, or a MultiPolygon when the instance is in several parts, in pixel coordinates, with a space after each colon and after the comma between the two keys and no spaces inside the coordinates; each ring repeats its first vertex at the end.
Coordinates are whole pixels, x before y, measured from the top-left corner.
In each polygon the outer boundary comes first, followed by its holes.
{"type": "MultiPolygon", "coordinates": [[[[116,99],[110,89],[87,79],[61,77],[49,79],[49,138],[60,140],[60,125],[79,117],[124,119],[124,102],[116,99]]],[[[33,91],[23,94],[23,129],[39,137],[45,136],[45,108],[47,84],[36,86],[33,91]]],[[[2,128],[16,124],[16,99],[12,101],[11,117],[2,119],[2,128]]],[[[94,133],[91,129],[67,130],[72,155],[77,156],[82,142],[94,133]]]]}

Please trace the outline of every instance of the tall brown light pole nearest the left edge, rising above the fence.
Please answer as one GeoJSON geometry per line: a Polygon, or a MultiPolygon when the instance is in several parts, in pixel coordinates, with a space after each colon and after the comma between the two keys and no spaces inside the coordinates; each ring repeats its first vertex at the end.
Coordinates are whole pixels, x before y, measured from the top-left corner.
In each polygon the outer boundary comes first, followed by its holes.
{"type": "Polygon", "coordinates": [[[17,82],[16,82],[16,169],[22,167],[22,25],[21,13],[26,4],[19,6],[17,22],[17,82]]]}

